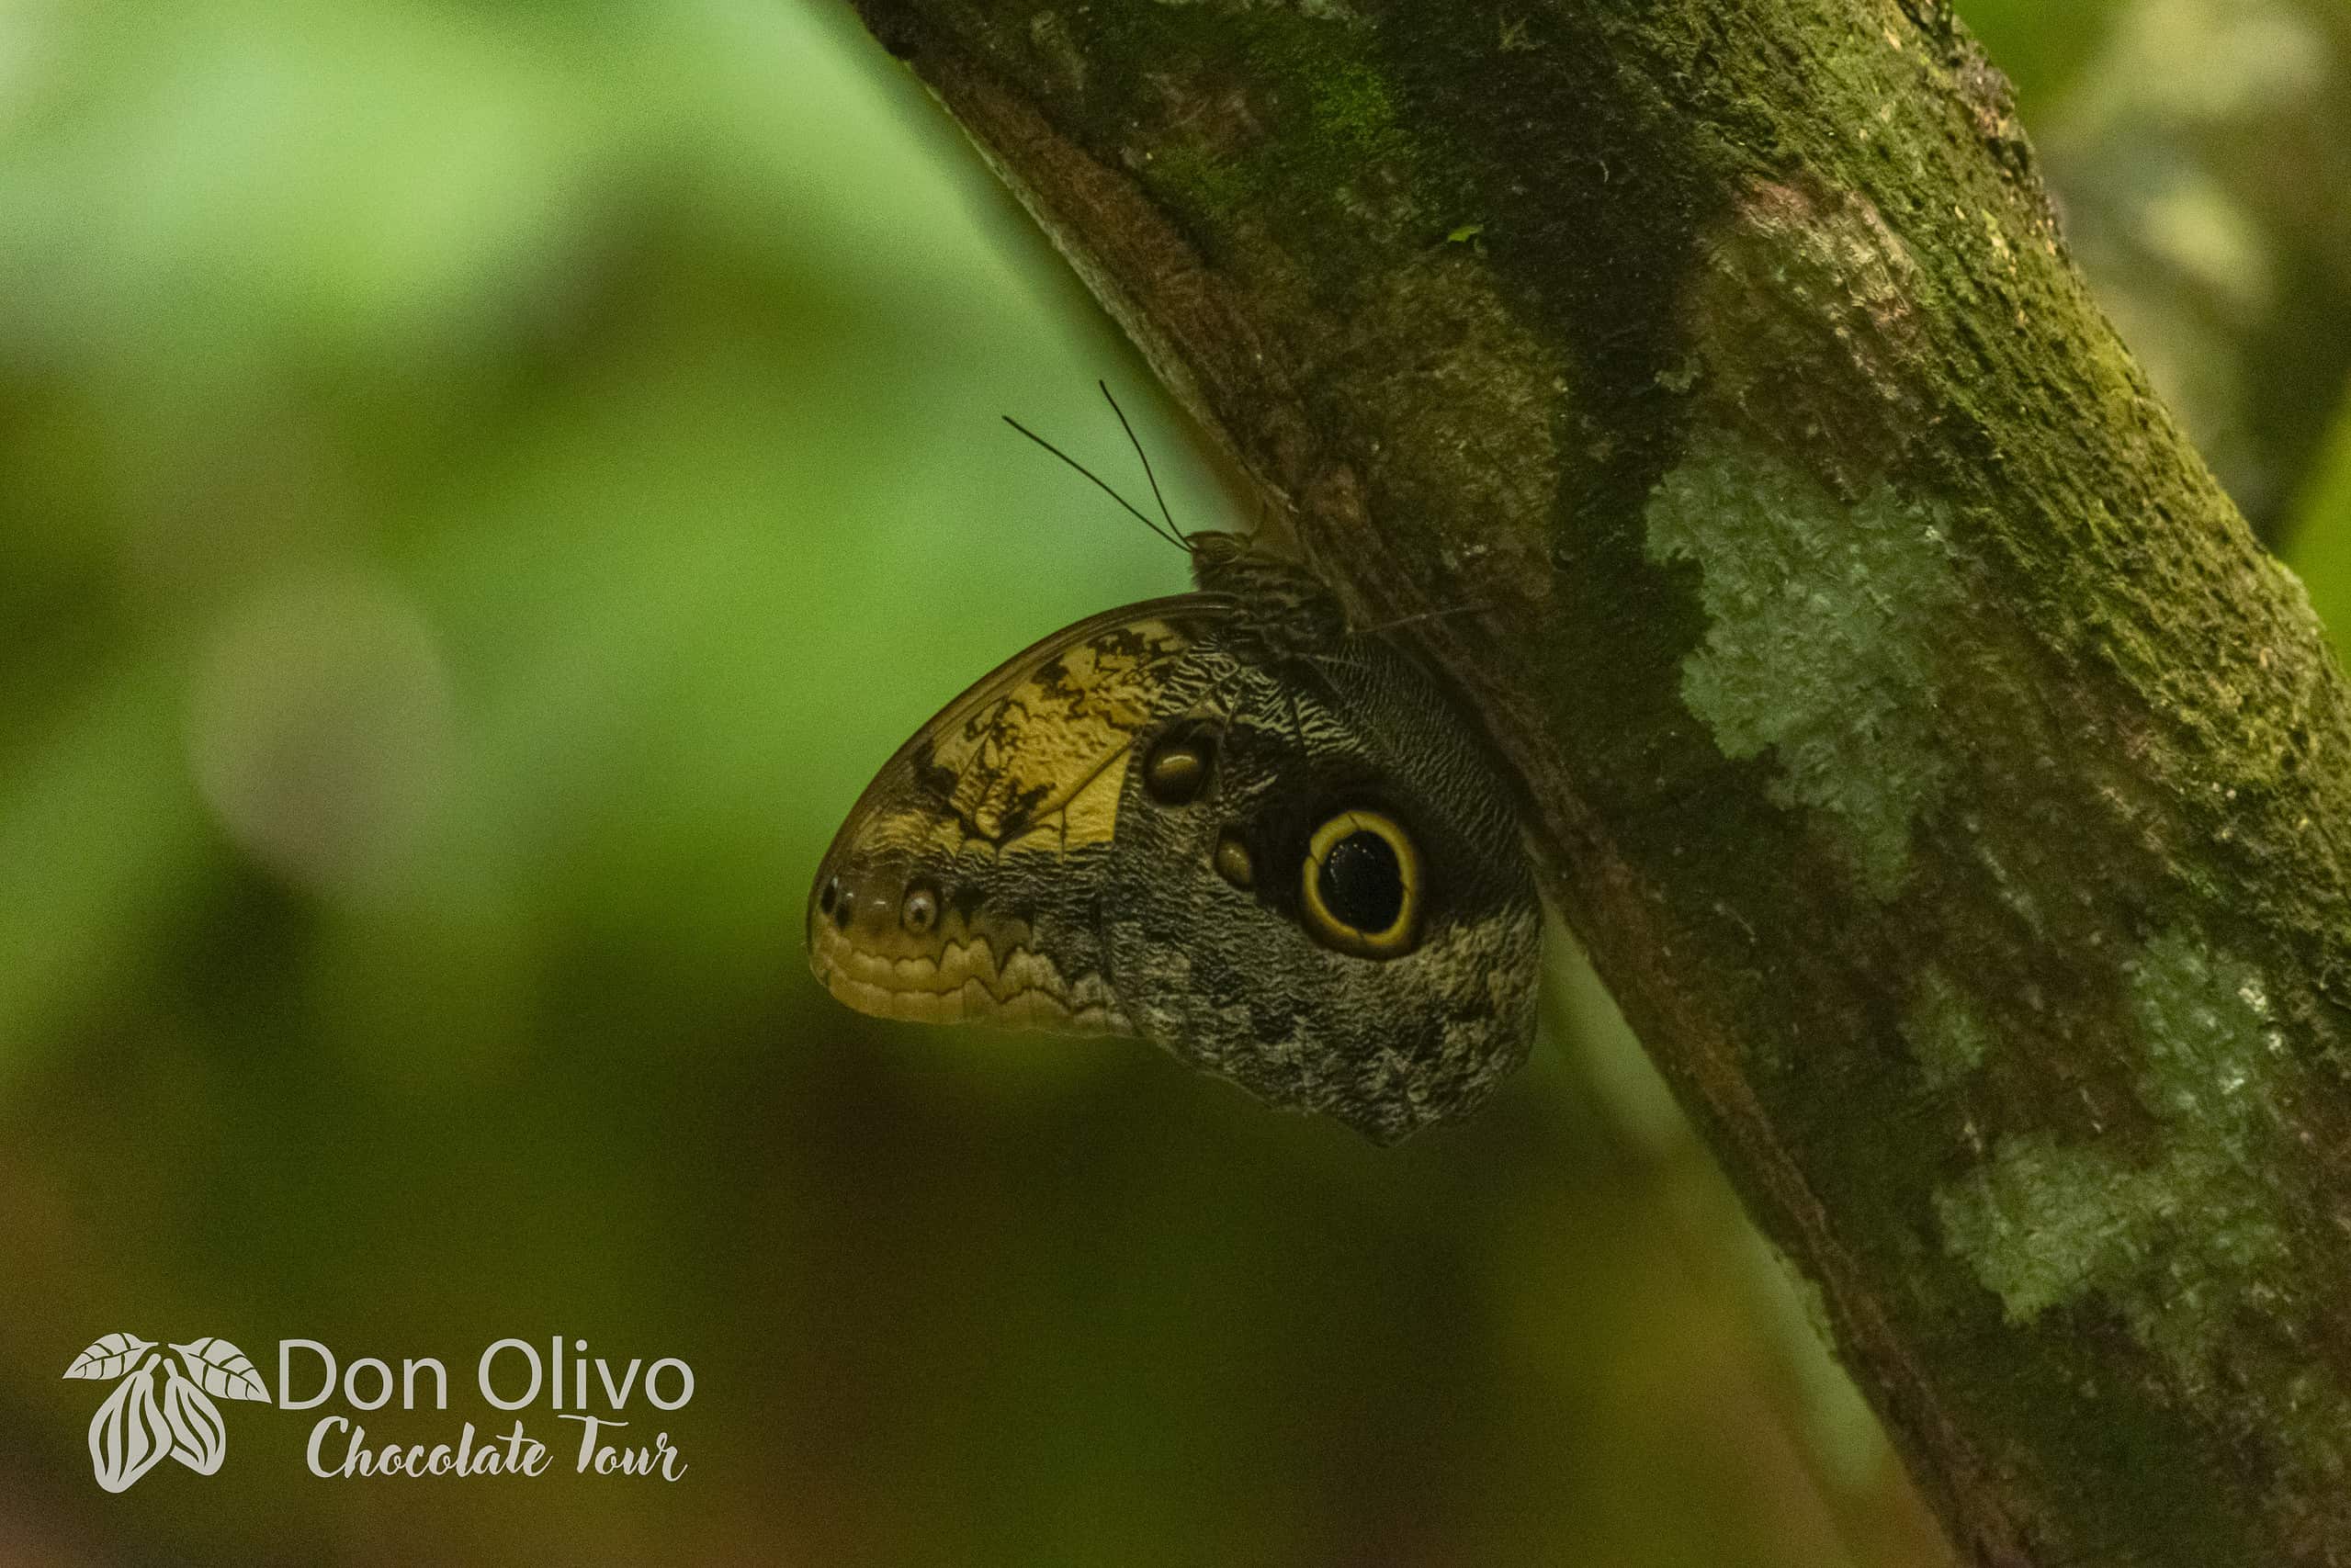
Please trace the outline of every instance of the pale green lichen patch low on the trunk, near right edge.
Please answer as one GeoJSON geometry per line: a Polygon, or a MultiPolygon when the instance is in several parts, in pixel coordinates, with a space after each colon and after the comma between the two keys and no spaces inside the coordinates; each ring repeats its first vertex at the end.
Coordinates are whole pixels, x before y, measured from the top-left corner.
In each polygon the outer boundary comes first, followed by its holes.
{"type": "Polygon", "coordinates": [[[2288,1255],[2264,1178],[2283,1037],[2262,976],[2184,931],[2146,943],[2125,983],[2154,1159],[2123,1128],[2088,1145],[2020,1133],[1935,1208],[2010,1321],[2097,1298],[2196,1389],[2288,1255]]]}

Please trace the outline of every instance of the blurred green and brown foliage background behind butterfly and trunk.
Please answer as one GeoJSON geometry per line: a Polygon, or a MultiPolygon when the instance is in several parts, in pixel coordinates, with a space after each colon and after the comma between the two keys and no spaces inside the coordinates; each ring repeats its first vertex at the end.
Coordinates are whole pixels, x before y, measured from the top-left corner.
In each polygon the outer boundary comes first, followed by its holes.
{"type": "MultiPolygon", "coordinates": [[[[2351,16],[1961,9],[2351,625],[2351,16]]],[[[882,757],[1183,585],[997,423],[1133,475],[1096,376],[1225,520],[832,7],[0,0],[0,1561],[1944,1561],[1566,952],[1385,1154],[813,990],[882,757]],[[691,1469],[317,1481],[233,1408],[113,1497],[115,1328],[682,1356],[691,1469]]]]}

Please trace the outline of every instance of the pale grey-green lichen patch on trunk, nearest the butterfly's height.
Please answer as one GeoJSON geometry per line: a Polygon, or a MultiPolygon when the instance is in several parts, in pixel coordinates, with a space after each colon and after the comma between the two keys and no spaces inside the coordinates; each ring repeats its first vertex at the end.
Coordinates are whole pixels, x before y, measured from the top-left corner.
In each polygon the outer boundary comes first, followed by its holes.
{"type": "Polygon", "coordinates": [[[1773,752],[1876,898],[1951,778],[1935,639],[1963,607],[1949,508],[1876,484],[1855,503],[1735,435],[1700,440],[1648,501],[1650,559],[1700,569],[1707,637],[1681,701],[1726,757],[1773,752]]]}

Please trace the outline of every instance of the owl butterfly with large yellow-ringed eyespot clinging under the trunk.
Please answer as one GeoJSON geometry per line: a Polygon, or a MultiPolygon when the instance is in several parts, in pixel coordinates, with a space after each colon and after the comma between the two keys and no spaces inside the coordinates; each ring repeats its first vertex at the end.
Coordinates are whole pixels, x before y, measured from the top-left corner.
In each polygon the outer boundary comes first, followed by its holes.
{"type": "Polygon", "coordinates": [[[1046,637],[898,748],[809,964],[879,1018],[1140,1034],[1375,1143],[1458,1117],[1535,1027],[1509,790],[1319,581],[1183,543],[1199,592],[1046,637]]]}

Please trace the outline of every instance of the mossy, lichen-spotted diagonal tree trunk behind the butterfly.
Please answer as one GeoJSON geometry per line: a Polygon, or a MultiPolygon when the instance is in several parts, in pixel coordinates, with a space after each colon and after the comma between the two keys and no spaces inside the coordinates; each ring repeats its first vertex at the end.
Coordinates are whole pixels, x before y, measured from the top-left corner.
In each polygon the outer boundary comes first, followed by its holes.
{"type": "Polygon", "coordinates": [[[1366,623],[1977,1563],[2351,1563],[2346,691],[1940,0],[865,0],[1366,623]]]}

